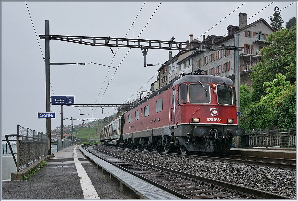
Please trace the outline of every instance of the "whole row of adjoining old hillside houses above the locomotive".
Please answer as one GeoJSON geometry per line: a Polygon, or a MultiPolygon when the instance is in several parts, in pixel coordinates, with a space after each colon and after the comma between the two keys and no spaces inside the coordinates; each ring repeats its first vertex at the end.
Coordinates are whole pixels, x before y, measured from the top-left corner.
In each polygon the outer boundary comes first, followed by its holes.
{"type": "MultiPolygon", "coordinates": [[[[239,35],[239,46],[243,47],[239,53],[240,64],[240,84],[251,85],[251,78],[248,77],[252,67],[257,65],[262,58],[260,49],[269,45],[264,41],[269,34],[276,30],[268,24],[263,18],[247,25],[247,14],[239,13],[239,26],[229,25],[227,34],[224,36],[211,35],[203,41],[193,39],[190,34],[190,45],[193,48],[209,49],[221,47],[221,45],[236,46],[234,42],[235,35],[239,35]]],[[[187,41],[188,42],[188,41],[187,41]]],[[[218,51],[180,51],[175,56],[169,52],[169,60],[159,68],[159,86],[157,82],[152,83],[151,90],[155,91],[164,86],[169,81],[181,76],[183,73],[193,72],[201,69],[206,75],[215,75],[229,77],[235,82],[235,56],[234,50],[222,49],[218,51]],[[154,86],[154,87],[153,87],[154,86]]]]}

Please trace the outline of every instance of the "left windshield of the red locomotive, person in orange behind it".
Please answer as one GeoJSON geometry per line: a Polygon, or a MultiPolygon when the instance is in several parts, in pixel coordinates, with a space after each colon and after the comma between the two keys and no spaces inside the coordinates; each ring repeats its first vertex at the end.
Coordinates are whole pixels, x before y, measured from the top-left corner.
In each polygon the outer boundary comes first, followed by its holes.
{"type": "Polygon", "coordinates": [[[209,84],[190,84],[189,85],[189,102],[190,103],[210,103],[209,84]],[[207,89],[206,90],[204,89],[207,89]]]}

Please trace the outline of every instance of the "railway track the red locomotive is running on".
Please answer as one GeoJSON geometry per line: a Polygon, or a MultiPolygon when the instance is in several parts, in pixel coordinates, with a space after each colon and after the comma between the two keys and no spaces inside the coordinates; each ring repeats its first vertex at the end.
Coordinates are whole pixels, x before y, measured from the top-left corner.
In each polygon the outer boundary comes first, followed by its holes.
{"type": "MultiPolygon", "coordinates": [[[[102,145],[105,146],[105,145],[102,145]]],[[[116,149],[124,149],[120,147],[113,147],[116,149]]],[[[176,157],[183,157],[183,158],[193,158],[193,159],[203,159],[209,161],[226,161],[229,163],[236,163],[236,164],[244,164],[244,165],[252,165],[252,166],[261,166],[261,167],[271,167],[277,169],[284,169],[284,170],[296,170],[296,160],[294,159],[285,159],[285,158],[264,158],[264,157],[253,157],[253,156],[234,156],[234,155],[212,155],[212,156],[201,156],[201,155],[184,155],[180,153],[165,153],[165,152],[157,152],[157,151],[144,151],[144,150],[137,150],[137,149],[127,149],[125,150],[134,150],[134,151],[141,151],[141,152],[151,152],[156,154],[162,154],[167,156],[176,156],[176,157]]]]}

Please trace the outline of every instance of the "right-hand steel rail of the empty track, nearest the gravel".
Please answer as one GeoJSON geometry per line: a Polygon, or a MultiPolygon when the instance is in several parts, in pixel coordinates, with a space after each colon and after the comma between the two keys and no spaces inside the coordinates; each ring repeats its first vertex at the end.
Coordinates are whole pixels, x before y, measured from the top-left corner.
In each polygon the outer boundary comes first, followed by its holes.
{"type": "Polygon", "coordinates": [[[195,180],[198,180],[198,181],[203,181],[204,183],[210,183],[210,184],[213,184],[215,187],[218,187],[218,188],[224,187],[229,191],[235,191],[236,190],[236,191],[239,191],[240,194],[245,195],[245,196],[254,195],[257,199],[295,199],[293,197],[279,195],[279,194],[271,193],[271,192],[268,192],[268,191],[253,189],[253,188],[246,187],[246,186],[240,186],[238,184],[233,184],[233,183],[229,183],[229,182],[225,182],[225,181],[221,181],[221,180],[202,177],[202,176],[199,176],[199,175],[194,175],[194,174],[190,174],[190,173],[187,173],[187,172],[182,172],[182,171],[179,171],[179,170],[169,169],[169,168],[166,168],[166,167],[161,167],[161,166],[158,166],[158,165],[149,164],[149,163],[142,162],[142,161],[137,161],[137,160],[134,160],[134,159],[131,159],[131,158],[126,158],[126,157],[123,157],[123,156],[118,156],[116,154],[108,153],[108,152],[99,150],[95,147],[94,147],[94,149],[97,150],[97,151],[100,151],[102,153],[108,154],[110,156],[115,156],[115,157],[117,156],[117,157],[123,158],[123,159],[128,160],[128,161],[133,161],[133,162],[136,162],[136,163],[139,163],[139,164],[144,164],[144,165],[154,167],[154,168],[157,168],[157,169],[160,169],[160,170],[163,170],[163,171],[167,171],[167,172],[173,172],[175,175],[181,175],[181,176],[184,176],[186,178],[191,178],[191,179],[195,179],[195,180]]]}

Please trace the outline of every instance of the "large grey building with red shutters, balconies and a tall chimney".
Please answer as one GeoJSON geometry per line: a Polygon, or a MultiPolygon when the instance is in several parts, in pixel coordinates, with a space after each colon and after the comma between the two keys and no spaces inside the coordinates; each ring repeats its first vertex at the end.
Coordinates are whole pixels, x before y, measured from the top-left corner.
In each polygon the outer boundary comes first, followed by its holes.
{"type": "MultiPolygon", "coordinates": [[[[246,13],[239,13],[239,26],[229,25],[226,36],[203,36],[202,43],[213,45],[235,46],[234,37],[239,35],[239,46],[244,49],[240,51],[240,84],[251,85],[248,78],[252,66],[255,66],[262,55],[260,49],[269,45],[264,41],[268,34],[275,32],[275,29],[263,18],[260,18],[249,25],[246,25],[246,13]]],[[[198,51],[193,53],[193,71],[197,69],[204,70],[204,74],[229,77],[235,80],[235,56],[234,50],[225,49],[219,51],[198,51]]],[[[183,62],[183,61],[181,61],[183,62]]]]}

